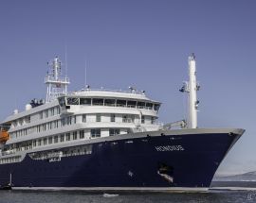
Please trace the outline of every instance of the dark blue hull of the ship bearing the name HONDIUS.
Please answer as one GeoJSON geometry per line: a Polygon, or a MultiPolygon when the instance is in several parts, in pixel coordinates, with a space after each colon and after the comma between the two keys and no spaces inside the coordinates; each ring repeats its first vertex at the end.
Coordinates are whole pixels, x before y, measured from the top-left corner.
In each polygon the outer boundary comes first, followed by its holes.
{"type": "Polygon", "coordinates": [[[91,154],[52,162],[27,155],[22,162],[0,165],[0,185],[11,173],[14,187],[209,187],[240,136],[144,136],[92,144],[91,154]]]}

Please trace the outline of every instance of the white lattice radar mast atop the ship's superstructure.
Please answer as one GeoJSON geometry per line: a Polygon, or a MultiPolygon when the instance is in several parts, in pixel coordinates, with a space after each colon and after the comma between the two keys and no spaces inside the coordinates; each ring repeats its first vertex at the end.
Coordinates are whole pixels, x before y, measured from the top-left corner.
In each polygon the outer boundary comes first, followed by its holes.
{"type": "Polygon", "coordinates": [[[67,93],[67,85],[70,83],[67,76],[62,77],[62,62],[58,57],[47,63],[50,71],[47,72],[45,84],[47,86],[46,102],[56,99],[67,93]]]}

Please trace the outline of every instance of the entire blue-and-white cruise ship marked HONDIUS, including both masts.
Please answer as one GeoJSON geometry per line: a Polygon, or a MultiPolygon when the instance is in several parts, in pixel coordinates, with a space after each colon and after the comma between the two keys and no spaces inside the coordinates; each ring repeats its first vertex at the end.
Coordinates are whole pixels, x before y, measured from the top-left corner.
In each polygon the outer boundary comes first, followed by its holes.
{"type": "MultiPolygon", "coordinates": [[[[205,191],[241,128],[198,128],[194,55],[188,118],[158,122],[159,101],[128,91],[69,93],[62,62],[49,63],[46,101],[33,99],[1,124],[0,188],[88,191],[205,191]]],[[[3,107],[1,107],[3,108],[3,107]]]]}

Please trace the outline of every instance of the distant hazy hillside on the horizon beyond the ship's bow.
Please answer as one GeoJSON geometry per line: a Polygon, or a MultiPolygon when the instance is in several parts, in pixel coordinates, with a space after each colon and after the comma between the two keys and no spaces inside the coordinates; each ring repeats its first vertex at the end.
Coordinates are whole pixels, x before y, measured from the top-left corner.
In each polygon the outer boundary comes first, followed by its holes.
{"type": "Polygon", "coordinates": [[[256,171],[228,177],[215,177],[213,181],[256,181],[256,171]]]}

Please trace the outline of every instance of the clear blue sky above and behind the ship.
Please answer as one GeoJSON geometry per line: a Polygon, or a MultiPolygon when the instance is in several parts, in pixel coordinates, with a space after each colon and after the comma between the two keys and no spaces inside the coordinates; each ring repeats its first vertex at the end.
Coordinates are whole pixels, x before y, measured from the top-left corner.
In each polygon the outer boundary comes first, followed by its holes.
{"type": "Polygon", "coordinates": [[[84,86],[87,61],[93,88],[133,85],[163,103],[160,121],[183,119],[194,52],[199,127],[247,129],[218,173],[256,170],[255,10],[253,0],[2,0],[0,119],[46,97],[46,62],[64,61],[65,47],[69,90],[84,86]]]}

